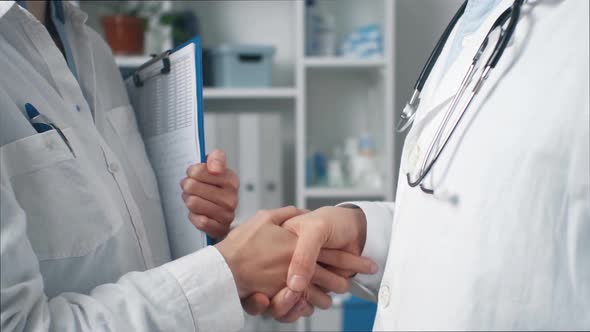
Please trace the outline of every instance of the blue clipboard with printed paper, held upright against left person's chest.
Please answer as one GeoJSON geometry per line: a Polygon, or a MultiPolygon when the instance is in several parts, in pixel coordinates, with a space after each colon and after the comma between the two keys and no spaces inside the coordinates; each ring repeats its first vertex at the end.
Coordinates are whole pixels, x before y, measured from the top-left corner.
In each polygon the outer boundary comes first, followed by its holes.
{"type": "Polygon", "coordinates": [[[180,181],[205,162],[201,46],[192,39],[148,61],[125,82],[156,173],[173,258],[211,244],[188,220],[180,181]]]}

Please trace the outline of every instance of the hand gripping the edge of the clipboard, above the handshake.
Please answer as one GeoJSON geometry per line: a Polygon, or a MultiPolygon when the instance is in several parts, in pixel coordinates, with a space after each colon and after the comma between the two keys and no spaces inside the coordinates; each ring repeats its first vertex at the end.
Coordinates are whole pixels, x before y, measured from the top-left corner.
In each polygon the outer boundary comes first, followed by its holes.
{"type": "Polygon", "coordinates": [[[195,227],[214,238],[229,233],[238,206],[238,176],[226,168],[225,153],[214,150],[207,164],[195,164],[182,180],[182,199],[195,227]]]}

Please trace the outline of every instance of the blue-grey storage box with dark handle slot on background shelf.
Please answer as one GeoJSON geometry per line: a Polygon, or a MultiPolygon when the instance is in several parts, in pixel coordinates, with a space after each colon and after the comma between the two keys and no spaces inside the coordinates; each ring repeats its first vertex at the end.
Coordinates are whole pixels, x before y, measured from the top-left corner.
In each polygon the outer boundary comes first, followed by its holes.
{"type": "Polygon", "coordinates": [[[273,46],[221,45],[208,51],[210,83],[216,87],[270,87],[273,46]]]}

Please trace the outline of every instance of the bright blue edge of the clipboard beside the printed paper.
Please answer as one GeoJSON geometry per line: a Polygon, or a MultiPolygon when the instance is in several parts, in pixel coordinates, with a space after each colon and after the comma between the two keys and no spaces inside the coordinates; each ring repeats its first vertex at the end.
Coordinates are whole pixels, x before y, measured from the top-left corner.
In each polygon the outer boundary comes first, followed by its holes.
{"type": "MultiPolygon", "coordinates": [[[[178,45],[174,49],[172,49],[172,53],[180,50],[181,48],[189,45],[195,45],[195,70],[196,70],[196,77],[197,77],[197,127],[199,129],[199,151],[201,152],[201,162],[207,162],[207,154],[205,153],[205,124],[204,124],[204,117],[205,117],[205,109],[203,106],[203,52],[201,47],[201,38],[194,37],[186,42],[178,45]]],[[[206,235],[207,237],[207,245],[211,246],[216,243],[215,239],[206,235]]]]}

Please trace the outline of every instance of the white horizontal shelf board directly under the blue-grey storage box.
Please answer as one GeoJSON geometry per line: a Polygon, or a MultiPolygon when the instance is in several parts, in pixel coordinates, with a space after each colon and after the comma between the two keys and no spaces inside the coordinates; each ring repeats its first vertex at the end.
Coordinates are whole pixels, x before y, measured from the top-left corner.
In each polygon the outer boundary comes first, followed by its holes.
{"type": "Polygon", "coordinates": [[[295,88],[205,88],[205,99],[291,99],[295,88]]]}

